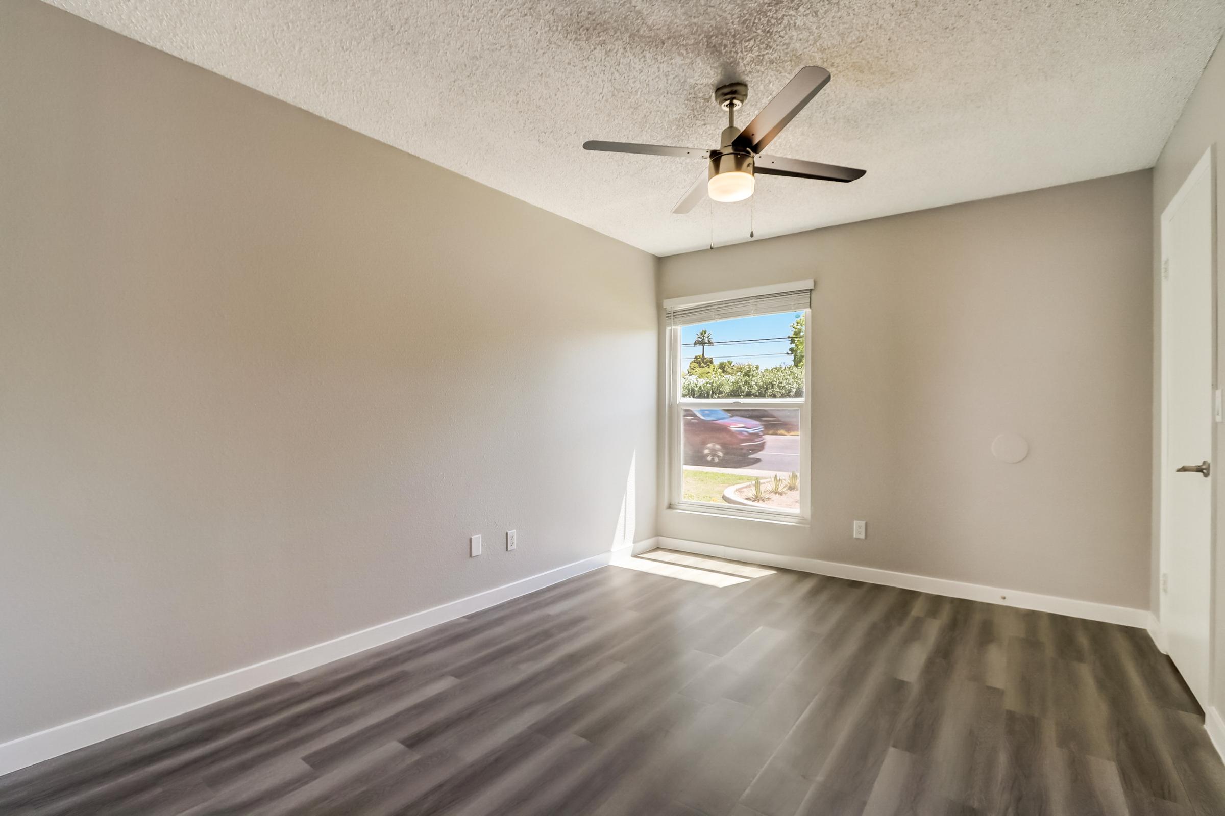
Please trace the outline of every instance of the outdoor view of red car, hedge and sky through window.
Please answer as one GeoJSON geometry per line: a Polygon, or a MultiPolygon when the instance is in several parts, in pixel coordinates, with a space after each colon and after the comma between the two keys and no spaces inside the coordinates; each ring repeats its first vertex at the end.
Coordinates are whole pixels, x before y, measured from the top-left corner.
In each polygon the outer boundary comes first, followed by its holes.
{"type": "Polygon", "coordinates": [[[682,325],[681,499],[799,513],[804,312],[682,325]]]}

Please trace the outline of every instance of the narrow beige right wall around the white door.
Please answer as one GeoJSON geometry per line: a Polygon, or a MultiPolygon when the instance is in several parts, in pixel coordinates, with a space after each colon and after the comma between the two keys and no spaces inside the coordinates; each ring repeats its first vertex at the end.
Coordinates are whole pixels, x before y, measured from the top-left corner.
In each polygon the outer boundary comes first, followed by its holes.
{"type": "MultiPolygon", "coordinates": [[[[1178,124],[1175,125],[1174,132],[1170,133],[1170,138],[1165,143],[1165,148],[1161,150],[1160,158],[1158,158],[1156,166],[1153,168],[1153,265],[1150,268],[1150,275],[1153,280],[1154,291],[1154,308],[1153,308],[1153,322],[1154,322],[1154,371],[1158,379],[1154,382],[1160,382],[1160,339],[1161,339],[1161,275],[1160,275],[1160,240],[1161,240],[1161,213],[1170,204],[1174,195],[1182,186],[1182,182],[1187,180],[1191,170],[1196,166],[1203,157],[1204,150],[1210,146],[1216,146],[1216,295],[1218,295],[1218,327],[1216,327],[1216,382],[1225,382],[1225,333],[1220,329],[1219,316],[1225,313],[1223,311],[1221,297],[1225,297],[1225,286],[1221,285],[1219,275],[1225,274],[1225,175],[1223,175],[1221,161],[1225,157],[1221,155],[1221,146],[1225,143],[1225,49],[1218,46],[1216,54],[1209,60],[1208,66],[1204,69],[1204,75],[1199,78],[1199,84],[1196,86],[1196,92],[1192,94],[1191,99],[1187,102],[1187,106],[1182,111],[1182,116],[1178,119],[1178,124]]],[[[1154,399],[1160,399],[1159,393],[1154,393],[1154,399]]],[[[1154,423],[1153,423],[1153,449],[1154,451],[1160,450],[1158,448],[1160,440],[1160,417],[1154,411],[1154,423]]],[[[1156,454],[1154,453],[1154,456],[1156,454]]],[[[1225,434],[1221,434],[1218,429],[1216,432],[1216,455],[1213,458],[1213,467],[1216,467],[1218,462],[1225,462],[1225,434]]],[[[1213,480],[1216,481],[1216,480],[1213,480]]],[[[1160,482],[1158,481],[1158,473],[1153,472],[1153,506],[1154,506],[1154,524],[1153,524],[1153,576],[1152,582],[1152,597],[1153,608],[1158,609],[1158,574],[1159,574],[1159,538],[1158,538],[1158,519],[1156,519],[1156,506],[1159,500],[1159,488],[1160,482]]],[[[1225,511],[1225,491],[1220,488],[1218,482],[1216,488],[1216,541],[1215,541],[1215,595],[1216,595],[1216,620],[1215,620],[1215,668],[1213,670],[1213,705],[1220,710],[1225,711],[1225,525],[1221,524],[1221,519],[1225,519],[1223,511],[1225,511]]]]}

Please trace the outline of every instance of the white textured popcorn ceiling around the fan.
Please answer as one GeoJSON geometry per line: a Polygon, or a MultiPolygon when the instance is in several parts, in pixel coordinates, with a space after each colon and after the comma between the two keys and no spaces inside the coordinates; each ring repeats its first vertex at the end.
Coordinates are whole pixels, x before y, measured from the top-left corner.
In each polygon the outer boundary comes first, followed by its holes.
{"type": "MultiPolygon", "coordinates": [[[[107,28],[657,254],[714,147],[719,82],[752,115],[833,73],[768,153],[867,169],[760,177],[758,237],[1152,166],[1225,28],[1223,0],[54,0],[107,28]]],[[[741,119],[741,124],[747,119],[741,119]]],[[[715,204],[714,242],[747,240],[715,204]]]]}

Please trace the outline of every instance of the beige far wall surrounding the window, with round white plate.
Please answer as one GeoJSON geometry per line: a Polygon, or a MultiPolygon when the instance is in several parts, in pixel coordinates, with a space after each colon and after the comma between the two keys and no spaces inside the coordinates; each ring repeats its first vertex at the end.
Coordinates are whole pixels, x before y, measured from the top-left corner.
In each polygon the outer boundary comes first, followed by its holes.
{"type": "Polygon", "coordinates": [[[1150,185],[1133,172],[662,259],[662,297],[816,291],[811,526],[663,509],[660,535],[1148,608],[1150,185]],[[1005,432],[1027,460],[991,456],[1005,432]]]}

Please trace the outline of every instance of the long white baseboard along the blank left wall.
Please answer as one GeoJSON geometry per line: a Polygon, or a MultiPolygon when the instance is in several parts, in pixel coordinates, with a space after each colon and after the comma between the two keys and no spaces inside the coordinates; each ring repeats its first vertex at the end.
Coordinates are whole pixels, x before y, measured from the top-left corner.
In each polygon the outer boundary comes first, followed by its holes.
{"type": "Polygon", "coordinates": [[[137,700],[118,708],[91,714],[62,725],[0,745],[0,776],[17,771],[36,762],[49,760],[86,745],[100,743],[104,739],[143,728],[170,717],[178,717],[189,711],[232,697],[268,683],[282,680],[306,669],[363,652],[375,646],[398,640],[413,632],[436,626],[447,620],[462,618],[488,607],[517,598],[521,595],[535,592],[551,584],[582,575],[593,569],[605,566],[620,558],[655,548],[655,538],[647,538],[635,544],[627,544],[599,555],[559,566],[526,577],[513,584],[486,590],[477,595],[443,603],[442,606],[417,612],[396,620],[342,635],[315,646],[300,648],[296,652],[273,657],[252,666],[246,666],[225,674],[200,680],[179,689],[172,689],[152,697],[137,700]]]}

